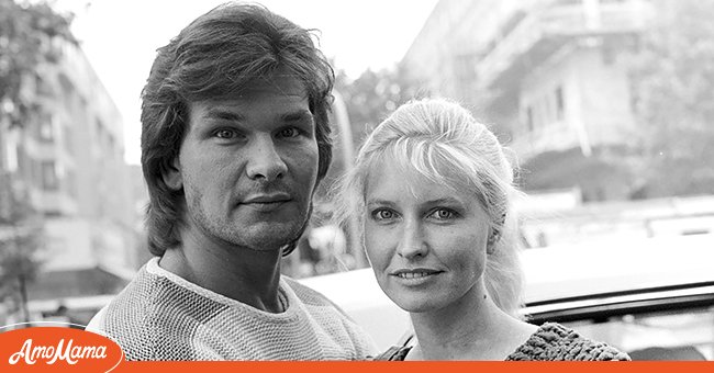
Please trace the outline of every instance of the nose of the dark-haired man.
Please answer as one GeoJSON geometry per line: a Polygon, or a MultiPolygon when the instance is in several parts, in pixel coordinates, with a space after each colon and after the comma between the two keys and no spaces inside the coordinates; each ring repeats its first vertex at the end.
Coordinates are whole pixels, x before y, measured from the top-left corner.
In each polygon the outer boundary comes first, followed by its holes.
{"type": "Polygon", "coordinates": [[[248,149],[246,173],[252,180],[274,181],[282,178],[288,166],[276,149],[269,135],[258,136],[248,149]]]}

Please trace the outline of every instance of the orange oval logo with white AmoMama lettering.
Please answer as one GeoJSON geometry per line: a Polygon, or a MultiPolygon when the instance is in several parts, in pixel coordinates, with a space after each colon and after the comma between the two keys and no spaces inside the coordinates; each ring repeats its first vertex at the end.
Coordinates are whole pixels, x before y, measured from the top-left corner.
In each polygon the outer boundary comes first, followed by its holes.
{"type": "MultiPolygon", "coordinates": [[[[1,329],[0,329],[1,330],[1,329]]],[[[109,372],[124,360],[111,339],[80,329],[31,327],[0,334],[0,371],[109,372]]]]}

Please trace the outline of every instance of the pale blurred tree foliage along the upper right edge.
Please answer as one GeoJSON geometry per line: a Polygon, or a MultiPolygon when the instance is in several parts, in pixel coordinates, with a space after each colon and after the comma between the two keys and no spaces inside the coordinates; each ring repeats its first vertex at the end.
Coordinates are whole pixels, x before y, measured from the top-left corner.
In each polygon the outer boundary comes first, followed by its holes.
{"type": "Polygon", "coordinates": [[[645,194],[714,193],[714,2],[654,4],[632,66],[645,194]]]}

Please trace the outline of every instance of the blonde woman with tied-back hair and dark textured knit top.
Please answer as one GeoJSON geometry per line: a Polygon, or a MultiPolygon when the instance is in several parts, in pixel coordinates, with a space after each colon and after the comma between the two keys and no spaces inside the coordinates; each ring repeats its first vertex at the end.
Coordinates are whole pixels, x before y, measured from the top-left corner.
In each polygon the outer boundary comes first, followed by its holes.
{"type": "Polygon", "coordinates": [[[370,134],[342,182],[342,215],[358,216],[377,281],[417,340],[378,360],[629,360],[518,318],[516,194],[503,147],[456,103],[406,103],[370,134]]]}

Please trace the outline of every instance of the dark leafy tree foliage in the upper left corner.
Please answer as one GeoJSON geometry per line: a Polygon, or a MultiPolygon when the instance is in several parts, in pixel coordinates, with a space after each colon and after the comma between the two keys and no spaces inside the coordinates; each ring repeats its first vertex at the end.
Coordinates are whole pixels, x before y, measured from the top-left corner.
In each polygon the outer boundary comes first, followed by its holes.
{"type": "Polygon", "coordinates": [[[70,15],[55,12],[47,2],[0,0],[0,116],[10,126],[22,126],[36,109],[32,94],[23,91],[23,80],[37,66],[56,63],[62,37],[76,43],[69,31],[70,15]]]}

